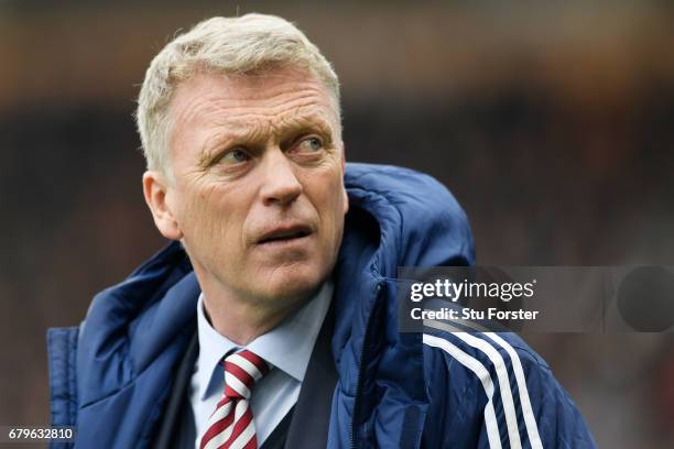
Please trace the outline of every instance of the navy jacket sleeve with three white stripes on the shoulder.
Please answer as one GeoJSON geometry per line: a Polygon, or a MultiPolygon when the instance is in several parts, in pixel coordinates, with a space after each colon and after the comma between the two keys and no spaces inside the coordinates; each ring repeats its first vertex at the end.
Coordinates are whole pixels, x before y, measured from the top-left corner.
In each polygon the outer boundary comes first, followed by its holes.
{"type": "Polygon", "coordinates": [[[424,335],[425,448],[595,448],[548,365],[519,338],[424,335]]]}

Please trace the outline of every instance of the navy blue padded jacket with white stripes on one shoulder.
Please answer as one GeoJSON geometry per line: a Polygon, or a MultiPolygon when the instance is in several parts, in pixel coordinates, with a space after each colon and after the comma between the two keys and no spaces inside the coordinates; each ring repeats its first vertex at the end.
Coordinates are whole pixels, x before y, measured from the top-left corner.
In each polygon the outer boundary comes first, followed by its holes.
{"type": "MultiPolygon", "coordinates": [[[[335,267],[329,448],[594,448],[547,364],[511,333],[398,331],[396,267],[475,263],[452,194],[411,169],[347,164],[335,267]]],[[[50,329],[53,425],[77,448],[146,448],[195,330],[199,287],[177,243],[50,329]]],[[[53,447],[72,447],[53,443],[53,447]]]]}

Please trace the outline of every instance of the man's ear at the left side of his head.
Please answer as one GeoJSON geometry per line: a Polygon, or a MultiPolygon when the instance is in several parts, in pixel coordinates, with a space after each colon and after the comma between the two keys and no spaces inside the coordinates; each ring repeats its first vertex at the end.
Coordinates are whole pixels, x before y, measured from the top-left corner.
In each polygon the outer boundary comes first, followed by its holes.
{"type": "Polygon", "coordinates": [[[183,232],[167,200],[170,187],[165,176],[156,171],[146,171],[143,174],[143,194],[154,225],[162,236],[171,240],[182,239],[183,232]]]}

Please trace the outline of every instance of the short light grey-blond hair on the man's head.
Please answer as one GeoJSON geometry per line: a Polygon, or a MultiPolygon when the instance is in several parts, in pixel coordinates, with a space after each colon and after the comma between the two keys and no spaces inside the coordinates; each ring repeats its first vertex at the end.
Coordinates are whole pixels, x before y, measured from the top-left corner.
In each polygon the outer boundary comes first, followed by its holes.
{"type": "Polygon", "coordinates": [[[239,74],[281,67],[307,70],[326,88],[340,127],[339,80],[316,45],[275,15],[211,18],[171,41],[152,59],[139,97],[135,121],[148,169],[173,178],[170,164],[170,105],[177,86],[197,73],[239,74]]]}

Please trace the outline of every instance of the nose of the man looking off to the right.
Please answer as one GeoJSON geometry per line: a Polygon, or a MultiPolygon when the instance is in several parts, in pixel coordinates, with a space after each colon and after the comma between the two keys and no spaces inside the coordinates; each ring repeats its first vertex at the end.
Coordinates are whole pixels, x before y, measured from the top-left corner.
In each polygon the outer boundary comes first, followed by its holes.
{"type": "Polygon", "coordinates": [[[281,149],[270,149],[262,158],[263,180],[260,189],[265,206],[285,206],[293,202],[303,190],[295,176],[293,163],[281,149]]]}

